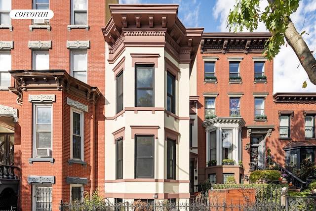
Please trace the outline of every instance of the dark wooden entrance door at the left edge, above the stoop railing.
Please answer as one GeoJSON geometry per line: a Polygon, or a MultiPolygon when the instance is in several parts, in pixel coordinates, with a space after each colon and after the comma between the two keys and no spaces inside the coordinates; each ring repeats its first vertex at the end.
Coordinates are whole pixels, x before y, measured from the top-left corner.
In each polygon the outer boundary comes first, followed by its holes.
{"type": "Polygon", "coordinates": [[[0,164],[14,165],[14,134],[0,134],[0,164]]]}

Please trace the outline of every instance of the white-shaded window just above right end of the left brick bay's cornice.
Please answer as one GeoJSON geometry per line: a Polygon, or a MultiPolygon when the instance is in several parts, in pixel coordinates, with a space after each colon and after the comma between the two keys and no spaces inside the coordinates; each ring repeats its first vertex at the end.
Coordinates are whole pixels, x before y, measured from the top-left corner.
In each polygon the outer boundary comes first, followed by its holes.
{"type": "Polygon", "coordinates": [[[87,52],[86,51],[71,51],[71,75],[87,83],[87,52]]]}

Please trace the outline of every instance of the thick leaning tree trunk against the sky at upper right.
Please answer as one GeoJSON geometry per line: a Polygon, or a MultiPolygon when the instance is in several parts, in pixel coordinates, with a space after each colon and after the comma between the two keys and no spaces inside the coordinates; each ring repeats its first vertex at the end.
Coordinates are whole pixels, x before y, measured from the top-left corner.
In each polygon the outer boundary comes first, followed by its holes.
{"type": "Polygon", "coordinates": [[[287,43],[292,47],[305,69],[310,81],[316,85],[316,60],[302,36],[295,29],[291,20],[287,25],[284,35],[287,43]]]}

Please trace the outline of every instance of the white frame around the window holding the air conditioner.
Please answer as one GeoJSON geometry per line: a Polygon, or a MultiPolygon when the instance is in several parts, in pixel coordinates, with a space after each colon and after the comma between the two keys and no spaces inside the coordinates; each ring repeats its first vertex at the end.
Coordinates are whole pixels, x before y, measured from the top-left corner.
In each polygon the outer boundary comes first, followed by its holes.
{"type": "Polygon", "coordinates": [[[36,118],[37,118],[37,112],[36,112],[36,108],[38,106],[44,106],[44,107],[51,107],[51,128],[50,128],[50,131],[51,131],[51,144],[50,144],[50,148],[47,148],[47,149],[50,149],[50,152],[51,152],[51,156],[50,158],[53,157],[52,155],[52,147],[53,147],[53,105],[52,104],[42,104],[42,103],[34,103],[33,104],[33,158],[37,158],[37,159],[44,159],[44,158],[40,158],[40,157],[37,157],[36,156],[36,133],[37,133],[37,127],[36,127],[36,118]]]}

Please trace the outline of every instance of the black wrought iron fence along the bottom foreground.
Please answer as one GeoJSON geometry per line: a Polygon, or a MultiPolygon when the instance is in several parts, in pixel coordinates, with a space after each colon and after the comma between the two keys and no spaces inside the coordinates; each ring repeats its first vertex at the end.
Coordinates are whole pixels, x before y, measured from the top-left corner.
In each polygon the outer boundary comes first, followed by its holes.
{"type": "Polygon", "coordinates": [[[185,203],[149,202],[135,200],[133,203],[110,203],[104,201],[94,204],[63,203],[60,211],[316,211],[316,197],[285,197],[282,194],[268,193],[266,197],[257,198],[254,203],[239,202],[233,204],[224,200],[223,203],[210,204],[207,196],[185,203]],[[269,196],[268,196],[269,195],[269,196]],[[283,197],[283,199],[282,199],[283,197]]]}

